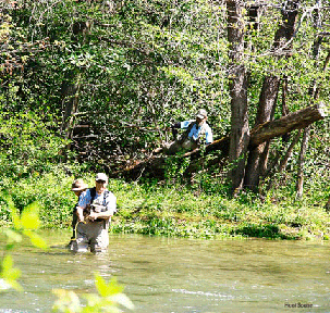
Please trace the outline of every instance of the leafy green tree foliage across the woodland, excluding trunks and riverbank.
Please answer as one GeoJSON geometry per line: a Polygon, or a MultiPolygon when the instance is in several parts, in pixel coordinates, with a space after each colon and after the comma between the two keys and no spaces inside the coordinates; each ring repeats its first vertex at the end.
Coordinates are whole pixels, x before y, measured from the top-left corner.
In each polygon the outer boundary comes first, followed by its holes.
{"type": "MultiPolygon", "coordinates": [[[[291,112],[309,105],[313,84],[320,87],[320,101],[330,99],[329,71],[323,71],[328,38],[321,41],[319,58],[313,54],[320,30],[307,14],[314,2],[301,2],[292,50],[283,58],[283,51],[279,55],[272,48],[283,23],[280,3],[260,11],[257,29],[245,17],[250,125],[269,75],[288,82],[276,117],[282,115],[282,100],[291,112]]],[[[169,140],[167,126],[191,118],[199,107],[208,110],[216,138],[228,133],[231,68],[224,1],[28,0],[0,5],[0,168],[8,176],[48,171],[60,154],[70,159],[60,124],[72,97],[78,100],[78,112],[71,117],[75,125],[88,125],[88,134],[74,134],[71,148],[94,168],[117,171],[145,158],[169,140]],[[11,147],[11,140],[20,145],[11,147]]],[[[323,8],[323,21],[328,17],[323,8]]],[[[316,126],[315,135],[327,136],[326,125],[316,126]]],[[[310,146],[322,151],[315,141],[310,146]]],[[[272,143],[271,151],[279,150],[272,143]]],[[[315,162],[316,153],[308,154],[309,172],[315,162]]]]}

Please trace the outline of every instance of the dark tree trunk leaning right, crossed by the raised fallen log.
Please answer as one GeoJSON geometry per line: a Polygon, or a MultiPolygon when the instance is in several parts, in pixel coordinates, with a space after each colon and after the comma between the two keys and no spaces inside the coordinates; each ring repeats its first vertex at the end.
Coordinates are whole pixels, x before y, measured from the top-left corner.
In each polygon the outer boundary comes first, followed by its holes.
{"type": "MultiPolygon", "coordinates": [[[[273,50],[280,49],[294,34],[294,25],[296,22],[298,1],[286,1],[283,7],[281,27],[274,35],[273,50]]],[[[285,51],[291,47],[285,48],[285,51]]],[[[255,126],[273,120],[273,114],[277,105],[277,99],[280,87],[279,76],[268,76],[265,78],[262,89],[259,97],[258,112],[255,126]]],[[[260,143],[249,150],[244,186],[256,190],[259,186],[260,176],[267,170],[268,154],[270,142],[260,143]]]]}

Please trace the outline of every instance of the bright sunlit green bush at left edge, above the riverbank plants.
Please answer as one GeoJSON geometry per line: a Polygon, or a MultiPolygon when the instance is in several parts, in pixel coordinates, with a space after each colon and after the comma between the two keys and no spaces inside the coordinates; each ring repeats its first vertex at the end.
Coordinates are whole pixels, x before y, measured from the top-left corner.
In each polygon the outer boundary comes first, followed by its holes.
{"type": "Polygon", "coordinates": [[[0,114],[0,170],[7,178],[35,175],[49,171],[60,160],[65,141],[50,130],[34,112],[0,114]]]}

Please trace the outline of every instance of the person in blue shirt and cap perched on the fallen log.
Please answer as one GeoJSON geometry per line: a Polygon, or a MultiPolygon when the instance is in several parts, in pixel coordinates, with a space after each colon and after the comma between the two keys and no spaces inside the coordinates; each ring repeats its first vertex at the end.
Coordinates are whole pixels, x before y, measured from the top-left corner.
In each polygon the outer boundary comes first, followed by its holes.
{"type": "Polygon", "coordinates": [[[195,120],[178,122],[171,126],[173,137],[176,138],[178,129],[185,132],[172,142],[163,142],[162,148],[155,150],[156,153],[164,153],[168,155],[175,154],[180,151],[193,151],[200,146],[203,139],[209,145],[213,141],[213,135],[210,126],[206,123],[207,112],[200,109],[195,120]]]}

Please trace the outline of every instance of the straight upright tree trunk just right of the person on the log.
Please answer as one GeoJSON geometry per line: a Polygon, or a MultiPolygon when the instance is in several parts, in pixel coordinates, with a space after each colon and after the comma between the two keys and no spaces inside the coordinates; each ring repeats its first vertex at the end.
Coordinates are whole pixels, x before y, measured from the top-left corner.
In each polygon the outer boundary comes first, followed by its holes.
{"type": "Polygon", "coordinates": [[[229,178],[232,191],[243,187],[245,161],[249,141],[247,111],[247,78],[244,66],[244,3],[243,1],[227,1],[228,39],[230,42],[230,96],[231,96],[231,135],[229,162],[232,170],[229,178]]]}

